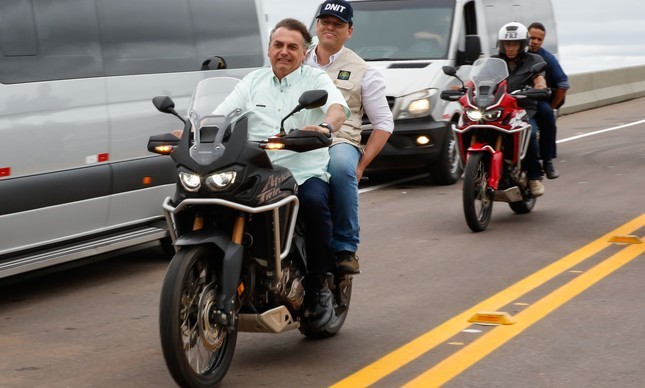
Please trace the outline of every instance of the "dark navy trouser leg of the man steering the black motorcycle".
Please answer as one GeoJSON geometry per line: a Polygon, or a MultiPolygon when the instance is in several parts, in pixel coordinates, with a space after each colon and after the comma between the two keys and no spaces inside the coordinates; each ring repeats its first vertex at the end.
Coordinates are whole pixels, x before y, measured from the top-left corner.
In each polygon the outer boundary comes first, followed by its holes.
{"type": "Polygon", "coordinates": [[[336,258],[331,251],[329,184],[318,178],[307,179],[298,186],[298,200],[298,218],[305,227],[307,271],[311,275],[334,272],[336,258]]]}

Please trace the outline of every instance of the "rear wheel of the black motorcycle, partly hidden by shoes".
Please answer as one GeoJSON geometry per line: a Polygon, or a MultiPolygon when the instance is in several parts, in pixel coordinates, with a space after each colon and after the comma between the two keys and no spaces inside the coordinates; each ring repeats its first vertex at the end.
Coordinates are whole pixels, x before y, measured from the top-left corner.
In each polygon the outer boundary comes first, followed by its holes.
{"type": "Polygon", "coordinates": [[[335,280],[332,293],[334,295],[334,316],[331,323],[324,330],[314,327],[308,320],[303,319],[300,325],[300,332],[307,338],[324,339],[338,333],[345,323],[347,313],[349,312],[349,302],[352,299],[352,281],[353,276],[344,275],[335,280]]]}

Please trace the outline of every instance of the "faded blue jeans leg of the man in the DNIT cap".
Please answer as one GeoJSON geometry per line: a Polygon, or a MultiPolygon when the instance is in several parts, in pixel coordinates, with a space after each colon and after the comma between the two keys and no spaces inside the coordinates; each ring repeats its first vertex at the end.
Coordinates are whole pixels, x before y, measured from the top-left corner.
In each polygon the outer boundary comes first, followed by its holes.
{"type": "Polygon", "coordinates": [[[331,174],[332,243],[334,252],[358,249],[358,182],[356,167],[361,158],[358,148],[348,143],[329,148],[331,174]]]}

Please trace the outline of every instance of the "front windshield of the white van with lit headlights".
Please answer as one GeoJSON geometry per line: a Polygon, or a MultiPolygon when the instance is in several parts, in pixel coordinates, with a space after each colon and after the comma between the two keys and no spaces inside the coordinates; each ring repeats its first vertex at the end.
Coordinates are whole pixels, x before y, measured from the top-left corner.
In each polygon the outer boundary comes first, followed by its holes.
{"type": "Polygon", "coordinates": [[[442,59],[448,55],[455,1],[357,1],[346,46],[366,61],[442,59]]]}

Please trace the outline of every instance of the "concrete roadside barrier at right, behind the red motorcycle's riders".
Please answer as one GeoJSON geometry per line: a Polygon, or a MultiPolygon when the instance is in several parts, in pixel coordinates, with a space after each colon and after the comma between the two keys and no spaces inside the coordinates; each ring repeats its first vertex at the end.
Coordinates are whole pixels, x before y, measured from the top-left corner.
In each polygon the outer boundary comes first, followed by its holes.
{"type": "Polygon", "coordinates": [[[645,96],[645,65],[569,75],[560,114],[569,114],[645,96]]]}

